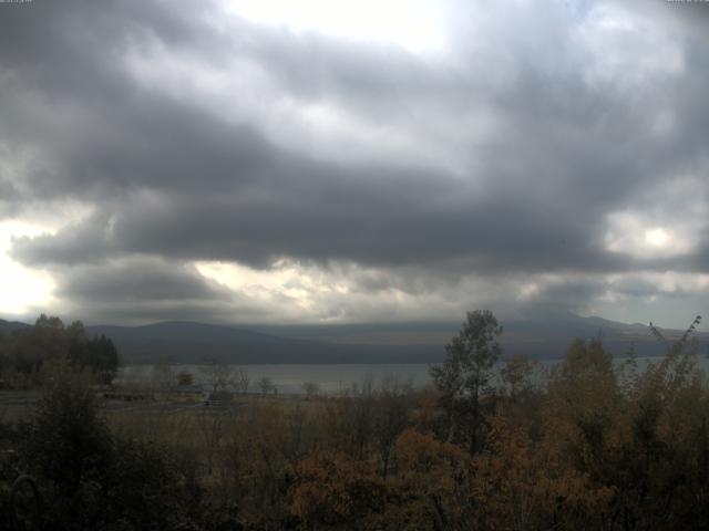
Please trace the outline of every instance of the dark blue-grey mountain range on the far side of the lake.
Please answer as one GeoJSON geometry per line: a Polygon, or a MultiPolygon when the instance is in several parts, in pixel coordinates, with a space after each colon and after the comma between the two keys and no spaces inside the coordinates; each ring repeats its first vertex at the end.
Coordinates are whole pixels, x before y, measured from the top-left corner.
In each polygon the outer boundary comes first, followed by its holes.
{"type": "MultiPolygon", "coordinates": [[[[638,355],[660,355],[665,345],[648,326],[625,324],[572,313],[503,322],[503,355],[558,358],[576,337],[600,335],[616,356],[635,346],[638,355]]],[[[29,326],[0,320],[0,331],[29,326]]],[[[395,323],[240,326],[171,321],[143,326],[88,326],[92,335],[111,337],[124,363],[199,363],[218,358],[232,363],[435,363],[445,355],[445,343],[458,333],[453,323],[395,323]]],[[[662,330],[669,340],[684,331],[662,330]]],[[[707,352],[709,334],[696,334],[700,352],[707,352]]]]}

